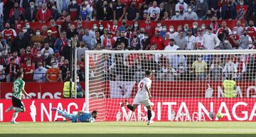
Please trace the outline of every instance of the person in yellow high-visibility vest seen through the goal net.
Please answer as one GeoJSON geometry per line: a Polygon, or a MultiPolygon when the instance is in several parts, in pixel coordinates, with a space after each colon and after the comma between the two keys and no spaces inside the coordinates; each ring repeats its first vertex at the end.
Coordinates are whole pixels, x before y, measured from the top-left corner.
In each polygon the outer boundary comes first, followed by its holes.
{"type": "Polygon", "coordinates": [[[236,97],[236,82],[232,79],[232,75],[229,75],[227,80],[223,82],[224,97],[232,98],[236,97]]]}

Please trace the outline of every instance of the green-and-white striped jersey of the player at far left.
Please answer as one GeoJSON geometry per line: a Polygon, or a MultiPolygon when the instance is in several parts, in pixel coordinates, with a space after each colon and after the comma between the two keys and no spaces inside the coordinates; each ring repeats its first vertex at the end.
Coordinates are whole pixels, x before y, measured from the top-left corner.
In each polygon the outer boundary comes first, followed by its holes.
{"type": "Polygon", "coordinates": [[[20,78],[15,80],[14,86],[13,86],[13,89],[14,89],[13,96],[16,97],[17,99],[21,99],[21,95],[22,95],[21,89],[23,89],[24,87],[25,87],[25,82],[23,80],[21,80],[20,78]]]}

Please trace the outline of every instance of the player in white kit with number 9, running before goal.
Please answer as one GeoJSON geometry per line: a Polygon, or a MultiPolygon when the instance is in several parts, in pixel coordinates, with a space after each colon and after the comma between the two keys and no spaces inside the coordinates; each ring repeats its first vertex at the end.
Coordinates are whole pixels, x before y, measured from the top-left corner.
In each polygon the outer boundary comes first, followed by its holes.
{"type": "Polygon", "coordinates": [[[139,82],[138,84],[138,91],[134,98],[133,104],[128,104],[127,100],[124,100],[124,102],[121,104],[121,107],[126,105],[131,111],[135,111],[137,109],[137,106],[140,104],[143,104],[146,106],[147,116],[148,116],[148,125],[153,124],[154,121],[151,121],[151,106],[150,106],[150,100],[151,94],[150,94],[150,87],[151,87],[151,72],[149,70],[145,71],[145,77],[139,82]]]}

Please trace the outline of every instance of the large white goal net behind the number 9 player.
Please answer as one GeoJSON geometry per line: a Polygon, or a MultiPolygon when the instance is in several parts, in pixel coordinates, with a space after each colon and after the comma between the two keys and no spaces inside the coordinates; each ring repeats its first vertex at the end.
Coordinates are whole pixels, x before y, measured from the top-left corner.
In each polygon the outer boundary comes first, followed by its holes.
{"type": "Polygon", "coordinates": [[[85,106],[97,121],[146,121],[132,104],[145,70],[152,72],[154,121],[256,121],[255,50],[85,52],[85,106]],[[218,119],[214,114],[220,113],[218,119]]]}

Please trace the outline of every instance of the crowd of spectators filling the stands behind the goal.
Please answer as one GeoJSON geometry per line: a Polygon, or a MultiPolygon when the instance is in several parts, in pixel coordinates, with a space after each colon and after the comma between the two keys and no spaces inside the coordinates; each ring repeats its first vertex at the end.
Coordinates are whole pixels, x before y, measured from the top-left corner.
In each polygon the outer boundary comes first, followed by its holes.
{"type": "MultiPolygon", "coordinates": [[[[26,82],[69,80],[73,44],[78,47],[80,81],[85,80],[85,50],[235,50],[256,45],[256,0],[2,0],[0,14],[1,82],[13,82],[18,71],[24,72],[26,82]],[[193,26],[161,23],[180,20],[193,20],[193,26]],[[203,20],[210,24],[199,26],[203,20]],[[232,20],[236,25],[228,28],[226,21],[232,20]],[[87,28],[84,21],[112,23],[87,28]],[[134,22],[130,26],[127,21],[134,22]],[[35,22],[50,22],[50,26],[32,29],[30,23],[35,22]],[[25,25],[14,30],[17,23],[25,25]]],[[[97,60],[97,55],[92,56],[97,60]]],[[[145,69],[155,70],[159,80],[188,80],[191,75],[198,80],[222,80],[228,72],[244,79],[256,73],[254,55],[129,54],[105,55],[105,59],[106,72],[114,80],[133,79],[117,73],[136,75],[145,69]]]]}

